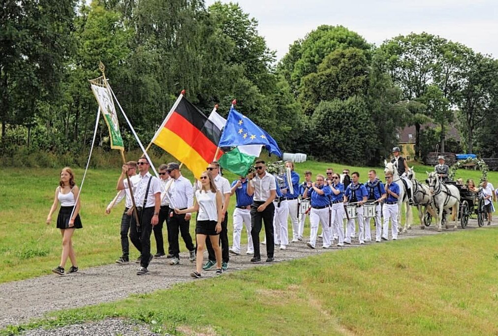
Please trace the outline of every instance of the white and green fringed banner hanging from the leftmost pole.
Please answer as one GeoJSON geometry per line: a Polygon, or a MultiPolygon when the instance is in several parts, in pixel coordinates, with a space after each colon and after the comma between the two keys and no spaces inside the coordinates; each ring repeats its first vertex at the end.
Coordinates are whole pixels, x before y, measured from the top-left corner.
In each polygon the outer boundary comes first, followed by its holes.
{"type": "Polygon", "coordinates": [[[109,128],[109,137],[111,138],[111,148],[124,150],[123,138],[121,137],[118,114],[114,106],[113,96],[109,83],[103,77],[90,81],[92,92],[94,93],[100,110],[104,115],[107,127],[109,128]]]}

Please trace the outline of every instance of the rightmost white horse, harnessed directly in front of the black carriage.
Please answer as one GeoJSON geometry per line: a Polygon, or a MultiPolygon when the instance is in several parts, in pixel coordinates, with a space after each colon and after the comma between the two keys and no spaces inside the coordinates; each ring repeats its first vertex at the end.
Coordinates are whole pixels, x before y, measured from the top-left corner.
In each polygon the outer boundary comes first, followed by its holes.
{"type": "MultiPolygon", "coordinates": [[[[443,211],[446,210],[446,214],[449,218],[451,209],[453,214],[456,214],[460,205],[460,191],[457,187],[451,184],[443,184],[439,180],[436,172],[427,173],[429,176],[429,190],[432,194],[432,206],[437,210],[435,212],[435,219],[437,224],[437,230],[441,231],[441,222],[443,220],[443,211]]],[[[458,216],[455,217],[454,228],[457,228],[458,216]]],[[[448,224],[446,224],[448,228],[448,224]]]]}

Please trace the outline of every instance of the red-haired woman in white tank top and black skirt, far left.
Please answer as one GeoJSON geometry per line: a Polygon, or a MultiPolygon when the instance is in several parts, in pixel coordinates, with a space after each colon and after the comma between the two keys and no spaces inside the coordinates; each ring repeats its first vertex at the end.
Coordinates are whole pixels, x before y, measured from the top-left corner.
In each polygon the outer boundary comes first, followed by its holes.
{"type": "Polygon", "coordinates": [[[71,259],[73,264],[69,269],[69,273],[78,271],[78,263],[73,250],[73,242],[71,240],[74,229],[82,228],[80,220],[80,200],[78,198],[79,189],[74,183],[74,174],[71,168],[65,167],[61,171],[59,186],[55,189],[54,203],[50,208],[47,216],[47,224],[52,221],[52,214],[57,209],[57,204],[60,202],[61,208],[57,216],[57,228],[62,234],[62,255],[61,263],[58,267],[52,269],[52,272],[59,275],[64,275],[64,266],[66,265],[67,257],[71,259]],[[76,202],[78,200],[78,202],[76,202]],[[74,211],[73,211],[74,209],[74,211]]]}

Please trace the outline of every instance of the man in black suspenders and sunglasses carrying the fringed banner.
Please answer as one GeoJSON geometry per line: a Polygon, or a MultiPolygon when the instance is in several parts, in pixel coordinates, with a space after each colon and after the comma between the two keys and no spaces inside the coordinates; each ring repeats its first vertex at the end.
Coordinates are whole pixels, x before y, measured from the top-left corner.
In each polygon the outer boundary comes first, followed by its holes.
{"type": "MultiPolygon", "coordinates": [[[[136,164],[138,165],[139,174],[137,176],[139,182],[135,186],[136,190],[133,196],[139,223],[136,223],[134,216],[131,217],[129,237],[133,245],[141,252],[140,269],[136,274],[145,275],[149,272],[147,267],[153,258],[152,254],[150,254],[150,234],[152,233],[152,226],[157,225],[159,222],[161,187],[157,177],[150,175],[150,164],[145,156],[138,159],[136,164]]],[[[118,190],[127,188],[123,182],[126,169],[123,166],[123,173],[118,180],[118,190]]],[[[130,211],[128,211],[128,215],[131,215],[130,211]]]]}

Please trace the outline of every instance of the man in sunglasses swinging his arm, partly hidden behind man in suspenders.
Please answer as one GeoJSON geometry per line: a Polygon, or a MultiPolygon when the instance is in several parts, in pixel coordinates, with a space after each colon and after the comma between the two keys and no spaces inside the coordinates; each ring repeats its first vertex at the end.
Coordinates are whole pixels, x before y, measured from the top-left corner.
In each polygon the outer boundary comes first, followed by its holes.
{"type": "MultiPolygon", "coordinates": [[[[128,161],[126,162],[126,174],[129,177],[129,180],[131,182],[132,186],[135,186],[138,184],[139,178],[136,175],[136,161],[128,161]]],[[[127,186],[128,181],[124,180],[124,184],[127,186]]],[[[132,187],[132,190],[134,190],[134,187],[132,187]]],[[[118,195],[114,198],[111,203],[106,208],[106,214],[111,213],[111,209],[114,208],[118,203],[120,203],[123,199],[124,201],[124,212],[123,216],[121,217],[121,250],[122,250],[122,255],[116,260],[117,264],[123,265],[129,261],[129,243],[128,243],[128,232],[129,232],[129,224],[131,221],[131,216],[127,214],[127,211],[129,208],[132,207],[131,203],[131,195],[129,193],[129,188],[126,188],[124,190],[120,190],[118,192],[118,195]]],[[[136,247],[136,246],[135,246],[136,247]]]]}

